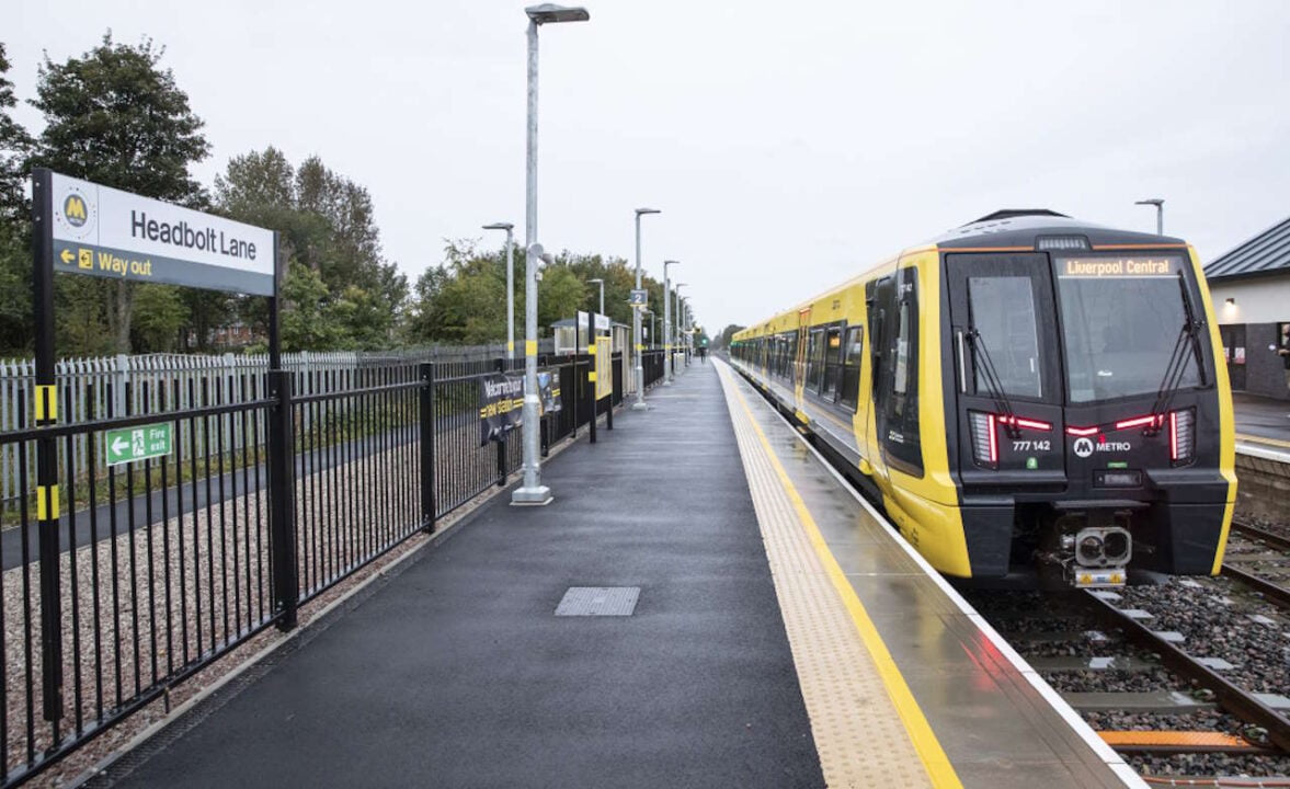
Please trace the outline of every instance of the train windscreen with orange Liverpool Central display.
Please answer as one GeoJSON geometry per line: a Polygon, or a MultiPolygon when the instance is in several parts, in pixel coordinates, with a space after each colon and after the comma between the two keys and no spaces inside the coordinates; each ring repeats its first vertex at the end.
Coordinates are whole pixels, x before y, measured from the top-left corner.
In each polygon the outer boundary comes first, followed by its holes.
{"type": "MultiPolygon", "coordinates": [[[[1057,258],[1054,268],[1071,402],[1155,394],[1187,322],[1183,259],[1082,255],[1057,258]]],[[[1180,388],[1200,380],[1186,351],[1180,388]]]]}

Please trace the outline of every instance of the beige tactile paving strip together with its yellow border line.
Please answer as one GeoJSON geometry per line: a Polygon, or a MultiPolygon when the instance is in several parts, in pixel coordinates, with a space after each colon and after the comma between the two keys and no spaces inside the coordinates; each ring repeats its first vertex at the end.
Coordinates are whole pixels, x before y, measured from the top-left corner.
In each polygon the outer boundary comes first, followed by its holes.
{"type": "Polygon", "coordinates": [[[717,371],[826,783],[961,786],[747,401],[730,373],[717,371]]]}

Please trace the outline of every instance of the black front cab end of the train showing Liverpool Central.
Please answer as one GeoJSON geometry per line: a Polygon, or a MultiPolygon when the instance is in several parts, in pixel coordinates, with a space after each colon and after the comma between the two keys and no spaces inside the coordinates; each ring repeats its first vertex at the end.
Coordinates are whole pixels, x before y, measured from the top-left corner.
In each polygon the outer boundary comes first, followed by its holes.
{"type": "Polygon", "coordinates": [[[1096,587],[1216,572],[1235,436],[1195,254],[942,249],[942,273],[970,575],[1037,566],[1096,587]]]}

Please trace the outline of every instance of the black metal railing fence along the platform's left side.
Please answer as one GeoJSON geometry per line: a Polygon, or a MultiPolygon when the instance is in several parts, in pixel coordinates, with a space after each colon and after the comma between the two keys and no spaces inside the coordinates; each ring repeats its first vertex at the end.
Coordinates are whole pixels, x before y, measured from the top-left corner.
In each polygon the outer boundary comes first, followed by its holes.
{"type": "MultiPolygon", "coordinates": [[[[592,360],[541,358],[562,404],[542,416],[543,453],[590,423],[592,360]]],[[[651,387],[663,355],[642,362],[651,387]]],[[[597,414],[622,402],[624,364],[614,356],[597,414]]],[[[213,370],[156,392],[68,383],[55,389],[68,407],[101,404],[89,419],[0,433],[18,468],[37,441],[54,442],[59,464],[59,485],[22,496],[0,531],[0,783],[168,697],[264,628],[293,627],[298,605],[504,485],[521,431],[480,445],[480,382],[520,369],[391,360],[304,374],[334,380],[213,370]],[[132,414],[133,402],[156,406],[132,414]],[[106,463],[112,431],[156,425],[169,453],[106,463]]],[[[19,482],[35,490],[26,471],[19,482]]]]}

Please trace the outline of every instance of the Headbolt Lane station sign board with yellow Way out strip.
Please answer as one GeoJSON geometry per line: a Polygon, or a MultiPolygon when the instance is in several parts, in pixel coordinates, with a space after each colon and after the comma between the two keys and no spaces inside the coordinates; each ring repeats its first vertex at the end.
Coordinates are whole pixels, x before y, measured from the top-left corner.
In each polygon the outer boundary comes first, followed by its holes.
{"type": "Polygon", "coordinates": [[[50,173],[54,271],[273,295],[273,232],[50,173]]]}

